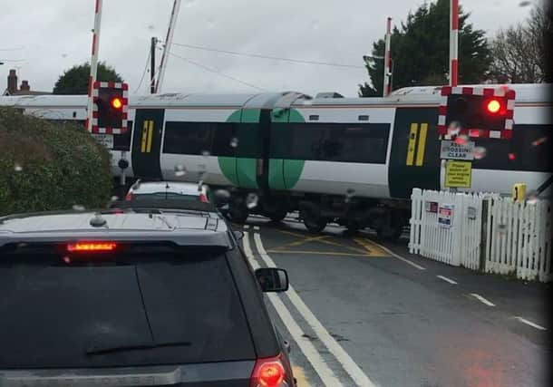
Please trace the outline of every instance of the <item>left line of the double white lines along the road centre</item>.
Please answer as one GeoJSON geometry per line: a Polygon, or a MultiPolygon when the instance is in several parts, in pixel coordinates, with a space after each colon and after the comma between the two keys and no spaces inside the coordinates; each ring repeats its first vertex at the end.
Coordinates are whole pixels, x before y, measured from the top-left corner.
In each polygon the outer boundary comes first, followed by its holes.
{"type": "MultiPolygon", "coordinates": [[[[242,247],[244,253],[247,256],[247,260],[250,265],[255,269],[259,268],[259,264],[255,259],[251,247],[249,246],[249,237],[247,231],[244,232],[244,238],[242,238],[242,247]]],[[[304,332],[286,308],[286,305],[275,294],[267,294],[269,301],[275,307],[276,313],[278,313],[282,322],[286,325],[286,329],[292,335],[297,343],[297,346],[302,353],[306,356],[306,359],[313,366],[315,372],[321,378],[321,381],[328,386],[342,386],[343,384],[336,378],[335,373],[328,367],[325,360],[321,357],[321,354],[317,352],[315,345],[309,341],[309,338],[304,336],[304,332]]]]}

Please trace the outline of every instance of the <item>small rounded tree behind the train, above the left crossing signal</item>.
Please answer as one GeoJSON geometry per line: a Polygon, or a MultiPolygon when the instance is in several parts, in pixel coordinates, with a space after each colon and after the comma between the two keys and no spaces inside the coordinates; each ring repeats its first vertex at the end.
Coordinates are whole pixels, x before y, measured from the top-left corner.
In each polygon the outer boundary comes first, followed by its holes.
{"type": "MultiPolygon", "coordinates": [[[[86,94],[88,93],[88,79],[91,73],[91,65],[83,63],[74,65],[71,69],[63,72],[53,85],[53,94],[86,94]]],[[[98,81],[122,82],[121,75],[105,64],[98,63],[98,81]]]]}

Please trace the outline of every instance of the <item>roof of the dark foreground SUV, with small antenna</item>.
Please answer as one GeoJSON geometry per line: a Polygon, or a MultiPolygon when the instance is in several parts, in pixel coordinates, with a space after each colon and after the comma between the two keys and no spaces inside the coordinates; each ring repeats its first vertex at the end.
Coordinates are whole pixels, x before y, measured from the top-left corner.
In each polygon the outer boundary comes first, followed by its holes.
{"type": "Polygon", "coordinates": [[[76,240],[233,246],[227,224],[217,212],[144,208],[143,205],[141,208],[131,208],[130,204],[127,207],[3,217],[0,218],[0,247],[12,243],[63,243],[76,240]]]}

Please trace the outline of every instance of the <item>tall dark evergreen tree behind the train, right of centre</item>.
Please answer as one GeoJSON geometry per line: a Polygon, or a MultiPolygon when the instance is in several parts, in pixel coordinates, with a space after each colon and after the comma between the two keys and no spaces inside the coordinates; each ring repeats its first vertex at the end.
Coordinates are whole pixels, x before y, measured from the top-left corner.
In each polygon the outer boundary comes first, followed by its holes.
{"type": "MultiPolygon", "coordinates": [[[[392,34],[392,87],[439,85],[448,82],[450,57],[449,0],[424,3],[407,15],[392,34]]],[[[459,82],[479,83],[489,78],[490,48],[484,31],[467,23],[470,14],[459,15],[459,82]]],[[[359,85],[359,95],[383,95],[383,39],[374,42],[375,57],[366,64],[371,82],[359,85]]]]}

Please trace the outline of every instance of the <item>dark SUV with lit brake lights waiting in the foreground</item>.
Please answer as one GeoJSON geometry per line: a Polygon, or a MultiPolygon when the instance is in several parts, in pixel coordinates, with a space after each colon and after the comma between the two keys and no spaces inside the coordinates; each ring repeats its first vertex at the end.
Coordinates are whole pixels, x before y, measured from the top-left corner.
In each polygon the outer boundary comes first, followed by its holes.
{"type": "Polygon", "coordinates": [[[286,271],[202,205],[0,218],[0,385],[294,385],[262,294],[286,271]]]}

